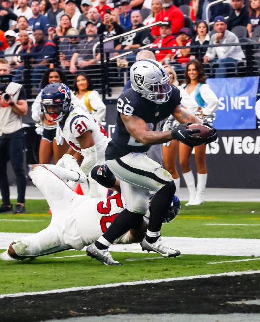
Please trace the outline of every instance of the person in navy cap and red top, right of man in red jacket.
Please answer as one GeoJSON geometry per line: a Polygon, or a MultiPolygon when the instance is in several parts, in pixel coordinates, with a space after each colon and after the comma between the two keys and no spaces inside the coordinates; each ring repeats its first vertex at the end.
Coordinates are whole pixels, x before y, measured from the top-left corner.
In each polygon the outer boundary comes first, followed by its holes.
{"type": "Polygon", "coordinates": [[[173,46],[186,46],[187,48],[173,50],[174,53],[171,56],[171,60],[175,60],[177,63],[182,64],[185,68],[185,63],[190,60],[190,45],[192,41],[192,32],[189,28],[184,27],[180,30],[179,36],[174,39],[173,46]]]}

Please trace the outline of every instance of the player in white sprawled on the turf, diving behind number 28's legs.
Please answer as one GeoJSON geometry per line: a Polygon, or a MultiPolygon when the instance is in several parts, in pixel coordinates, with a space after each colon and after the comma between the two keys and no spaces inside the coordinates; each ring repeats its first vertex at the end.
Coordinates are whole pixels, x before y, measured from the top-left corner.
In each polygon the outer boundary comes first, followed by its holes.
{"type": "MultiPolygon", "coordinates": [[[[68,249],[81,250],[101,236],[124,209],[120,193],[100,200],[73,192],[63,180],[71,180],[75,175],[75,178],[81,178],[84,174],[75,158],[71,155],[64,155],[63,158],[65,169],[62,169],[62,173],[61,167],[49,164],[35,164],[29,173],[32,182],[51,207],[50,225],[36,234],[14,240],[8,250],[1,254],[2,260],[21,260],[68,249]],[[61,178],[58,177],[60,174],[61,178]]],[[[105,177],[103,181],[107,183],[105,177]]],[[[179,214],[180,202],[174,197],[165,222],[173,220],[179,214]]],[[[140,242],[146,228],[147,224],[143,220],[137,229],[129,230],[116,242],[140,242]]]]}

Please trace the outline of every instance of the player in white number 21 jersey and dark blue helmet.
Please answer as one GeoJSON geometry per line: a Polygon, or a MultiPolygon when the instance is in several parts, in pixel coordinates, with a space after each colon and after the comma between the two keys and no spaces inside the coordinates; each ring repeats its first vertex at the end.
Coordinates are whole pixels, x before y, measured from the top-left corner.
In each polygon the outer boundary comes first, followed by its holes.
{"type": "MultiPolygon", "coordinates": [[[[84,157],[81,169],[86,176],[96,163],[104,164],[105,150],[111,138],[90,113],[71,104],[71,93],[65,84],[51,83],[44,87],[41,107],[44,114],[49,114],[58,123],[72,149],[84,157]]],[[[62,162],[58,161],[57,165],[62,166],[62,162]]],[[[99,185],[97,188],[97,183],[90,177],[89,183],[91,197],[106,195],[106,189],[99,185]]]]}

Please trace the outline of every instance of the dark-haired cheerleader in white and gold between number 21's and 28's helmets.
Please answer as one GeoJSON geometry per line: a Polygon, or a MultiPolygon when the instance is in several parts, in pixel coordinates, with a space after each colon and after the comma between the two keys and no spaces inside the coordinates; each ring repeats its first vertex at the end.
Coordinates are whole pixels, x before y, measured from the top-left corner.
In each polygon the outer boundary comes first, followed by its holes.
{"type": "Polygon", "coordinates": [[[93,90],[90,77],[84,72],[79,73],[74,81],[76,97],[85,105],[98,123],[102,122],[106,114],[106,106],[97,91],[93,90]]]}

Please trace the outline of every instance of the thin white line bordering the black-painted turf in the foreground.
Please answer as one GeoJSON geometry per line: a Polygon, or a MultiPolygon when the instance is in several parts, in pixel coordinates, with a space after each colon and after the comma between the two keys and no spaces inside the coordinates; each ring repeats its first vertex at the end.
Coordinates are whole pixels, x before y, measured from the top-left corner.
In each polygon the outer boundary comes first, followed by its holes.
{"type": "Polygon", "coordinates": [[[144,281],[134,281],[134,282],[110,283],[110,284],[101,284],[101,285],[96,285],[96,286],[85,286],[85,287],[83,286],[83,287],[52,289],[49,291],[40,291],[40,292],[2,294],[2,295],[0,295],[0,299],[7,298],[7,297],[21,297],[21,296],[27,296],[27,295],[35,296],[35,295],[75,292],[75,291],[84,291],[84,290],[118,287],[118,286],[141,285],[141,284],[172,282],[172,281],[186,281],[186,280],[195,280],[195,279],[203,279],[203,278],[210,278],[210,277],[222,277],[222,276],[241,276],[241,275],[249,275],[249,274],[260,274],[260,270],[258,270],[258,271],[243,271],[243,272],[226,272],[226,273],[194,275],[194,276],[181,276],[181,277],[171,277],[171,278],[166,278],[166,279],[144,280],[144,281]]]}

